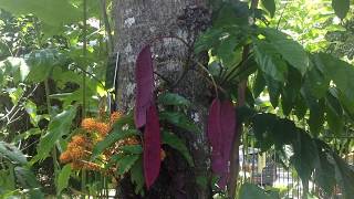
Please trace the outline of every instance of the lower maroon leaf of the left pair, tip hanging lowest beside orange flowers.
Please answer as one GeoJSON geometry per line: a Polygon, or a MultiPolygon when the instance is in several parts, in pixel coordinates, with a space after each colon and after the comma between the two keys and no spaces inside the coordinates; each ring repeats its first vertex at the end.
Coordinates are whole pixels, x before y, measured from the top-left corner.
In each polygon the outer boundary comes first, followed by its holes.
{"type": "Polygon", "coordinates": [[[147,109],[144,132],[144,176],[147,189],[154,184],[160,167],[160,132],[158,114],[155,105],[147,109]]]}

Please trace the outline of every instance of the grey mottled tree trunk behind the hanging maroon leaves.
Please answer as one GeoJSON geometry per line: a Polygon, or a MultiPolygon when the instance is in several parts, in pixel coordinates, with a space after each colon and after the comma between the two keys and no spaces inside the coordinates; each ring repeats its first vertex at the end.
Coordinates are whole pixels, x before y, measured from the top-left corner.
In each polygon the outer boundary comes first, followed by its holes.
{"type": "MultiPolygon", "coordinates": [[[[198,72],[190,46],[210,19],[205,3],[196,0],[116,0],[116,52],[119,53],[117,78],[118,109],[129,112],[135,97],[135,61],[142,48],[152,44],[156,84],[189,98],[192,107],[189,116],[204,126],[209,104],[208,84],[198,72]],[[206,19],[205,19],[206,18],[206,19]],[[175,39],[167,36],[175,36],[175,39]],[[178,39],[176,39],[178,38],[178,39]],[[181,41],[181,40],[184,41],[181,41]],[[189,46],[188,46],[189,45],[189,46]],[[186,69],[188,72],[184,73],[186,69]],[[183,74],[183,75],[181,75],[183,74]],[[164,77],[162,77],[164,76],[164,77]],[[183,76],[183,77],[181,77],[183,76]],[[176,81],[178,84],[176,84],[176,81]]],[[[207,0],[205,0],[207,1],[207,0]]],[[[188,140],[195,167],[190,168],[178,157],[167,157],[158,180],[145,198],[210,198],[210,171],[205,134],[175,132],[188,140]],[[207,186],[202,186],[207,181],[207,186]]],[[[128,180],[123,184],[129,184],[128,180]]],[[[122,198],[137,198],[132,186],[122,185],[122,198]],[[134,196],[134,197],[133,197],[134,196]]]]}

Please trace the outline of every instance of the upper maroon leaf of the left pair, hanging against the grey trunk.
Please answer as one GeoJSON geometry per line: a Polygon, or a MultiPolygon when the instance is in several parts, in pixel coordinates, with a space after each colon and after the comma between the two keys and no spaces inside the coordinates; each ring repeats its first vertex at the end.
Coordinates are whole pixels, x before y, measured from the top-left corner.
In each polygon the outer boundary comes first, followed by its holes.
{"type": "Polygon", "coordinates": [[[146,45],[137,56],[135,66],[136,100],[134,121],[137,128],[146,124],[146,112],[153,102],[154,70],[150,46],[146,45]]]}

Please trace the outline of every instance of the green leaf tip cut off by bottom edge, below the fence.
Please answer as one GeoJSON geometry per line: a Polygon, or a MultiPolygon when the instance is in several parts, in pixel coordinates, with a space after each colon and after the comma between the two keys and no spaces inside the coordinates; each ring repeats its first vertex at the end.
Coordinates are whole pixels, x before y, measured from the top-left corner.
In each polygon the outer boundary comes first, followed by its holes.
{"type": "Polygon", "coordinates": [[[272,199],[270,195],[266,192],[262,188],[252,184],[243,184],[239,192],[240,199],[272,199]]]}

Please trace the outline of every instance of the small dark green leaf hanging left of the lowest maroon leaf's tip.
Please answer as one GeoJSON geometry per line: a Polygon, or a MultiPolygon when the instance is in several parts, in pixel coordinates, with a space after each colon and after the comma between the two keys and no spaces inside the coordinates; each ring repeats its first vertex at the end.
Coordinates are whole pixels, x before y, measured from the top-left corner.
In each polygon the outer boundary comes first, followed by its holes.
{"type": "Polygon", "coordinates": [[[143,172],[143,159],[139,158],[138,160],[135,161],[131,169],[131,179],[132,182],[135,184],[135,193],[140,193],[142,196],[144,195],[144,185],[145,185],[145,179],[144,179],[144,172],[143,172]]]}

